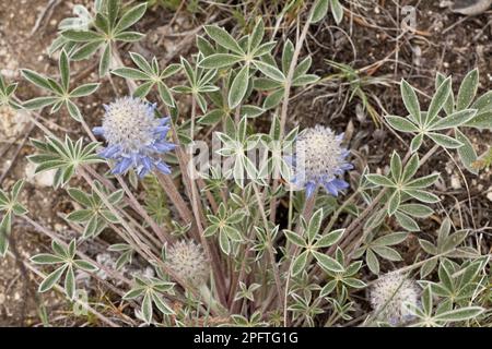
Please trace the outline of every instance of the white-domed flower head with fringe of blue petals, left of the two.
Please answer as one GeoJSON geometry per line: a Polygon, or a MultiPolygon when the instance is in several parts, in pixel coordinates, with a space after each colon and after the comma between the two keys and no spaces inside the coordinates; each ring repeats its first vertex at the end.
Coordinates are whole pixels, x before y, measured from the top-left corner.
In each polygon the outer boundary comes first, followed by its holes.
{"type": "Polygon", "coordinates": [[[126,173],[130,168],[134,168],[140,178],[154,169],[171,173],[161,156],[176,145],[166,141],[169,118],[155,118],[155,104],[124,97],[104,108],[103,124],[93,132],[103,135],[107,142],[99,156],[115,160],[112,173],[126,173]]]}

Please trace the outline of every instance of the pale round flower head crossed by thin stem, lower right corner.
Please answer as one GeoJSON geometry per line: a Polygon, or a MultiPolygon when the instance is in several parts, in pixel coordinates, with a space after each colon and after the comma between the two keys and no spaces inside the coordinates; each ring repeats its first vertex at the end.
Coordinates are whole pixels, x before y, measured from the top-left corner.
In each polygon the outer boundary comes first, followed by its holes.
{"type": "Polygon", "coordinates": [[[398,272],[382,275],[375,281],[370,296],[371,305],[378,318],[391,325],[411,321],[414,317],[411,306],[418,304],[419,298],[417,282],[398,272]]]}

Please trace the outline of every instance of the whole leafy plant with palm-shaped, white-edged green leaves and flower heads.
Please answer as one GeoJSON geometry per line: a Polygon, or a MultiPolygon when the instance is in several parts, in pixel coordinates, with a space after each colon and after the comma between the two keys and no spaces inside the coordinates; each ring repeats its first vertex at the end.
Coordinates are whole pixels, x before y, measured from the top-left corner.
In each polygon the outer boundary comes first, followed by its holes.
{"type": "Polygon", "coordinates": [[[437,74],[430,101],[402,80],[406,111],[384,121],[408,142],[388,154],[387,171],[361,168],[329,118],[315,127],[289,118],[293,92],[320,81],[304,50],[307,33],[340,23],[343,1],[305,1],[291,38],[262,19],[244,31],[204,25],[194,53],[164,67],[137,52],[145,9],[119,0],[78,5],[49,48],[59,72],[22,70],[38,97],[20,100],[16,83],[0,76],[0,103],[24,109],[43,133],[31,140],[28,160],[36,173],[55,170],[52,190],[71,201],[60,214],[74,233],[67,238],[24,208],[22,181],[0,191],[0,254],[12,255],[17,222],[51,244],[25,262],[40,293],[60,292],[85,310],[74,318],[92,314],[104,326],[490,321],[490,255],[476,227],[457,227],[440,209],[441,165],[423,166],[437,152],[456,153],[478,173],[467,129],[492,128],[492,92],[476,98],[478,70],[456,96],[452,77],[437,74]],[[71,75],[80,61],[95,63],[101,80],[80,84],[71,75]],[[125,94],[98,99],[102,118],[85,115],[80,98],[99,98],[110,81],[125,94]],[[56,120],[63,108],[83,135],[36,117],[56,120]],[[203,152],[208,166],[197,168],[203,152]]]}

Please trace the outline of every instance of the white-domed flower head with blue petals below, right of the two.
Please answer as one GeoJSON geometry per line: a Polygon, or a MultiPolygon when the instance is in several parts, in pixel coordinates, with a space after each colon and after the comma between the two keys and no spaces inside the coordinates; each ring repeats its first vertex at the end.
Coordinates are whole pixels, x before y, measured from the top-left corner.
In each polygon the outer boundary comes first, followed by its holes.
{"type": "Polygon", "coordinates": [[[333,196],[349,188],[341,176],[352,169],[345,158],[350,152],[343,148],[343,134],[336,135],[329,128],[316,125],[304,130],[296,140],[295,155],[291,160],[295,168],[294,184],[303,186],[311,196],[323,185],[333,196]]]}

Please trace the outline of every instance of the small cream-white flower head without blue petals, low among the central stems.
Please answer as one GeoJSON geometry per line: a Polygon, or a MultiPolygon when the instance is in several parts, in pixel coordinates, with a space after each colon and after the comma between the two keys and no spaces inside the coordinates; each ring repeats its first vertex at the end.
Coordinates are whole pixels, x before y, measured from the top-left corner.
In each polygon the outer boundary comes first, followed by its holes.
{"type": "Polygon", "coordinates": [[[167,249],[166,261],[181,280],[200,286],[209,276],[209,262],[200,245],[194,241],[180,240],[167,249]]]}

